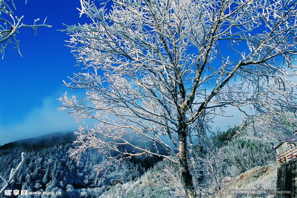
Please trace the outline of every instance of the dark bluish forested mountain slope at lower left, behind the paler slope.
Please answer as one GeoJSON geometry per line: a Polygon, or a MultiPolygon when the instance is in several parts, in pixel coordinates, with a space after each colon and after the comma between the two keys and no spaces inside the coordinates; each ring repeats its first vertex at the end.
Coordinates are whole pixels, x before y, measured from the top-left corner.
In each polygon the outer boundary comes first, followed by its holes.
{"type": "Polygon", "coordinates": [[[125,169],[122,169],[120,164],[110,167],[102,178],[103,173],[97,175],[94,166],[105,158],[96,151],[90,150],[83,154],[79,164],[69,159],[67,151],[73,147],[72,142],[75,138],[71,132],[52,133],[0,146],[0,172],[4,178],[8,178],[10,170],[21,161],[20,153],[25,153],[24,163],[9,189],[61,192],[63,197],[98,197],[118,183],[127,183],[139,178],[160,160],[132,159],[123,164],[125,169]]]}

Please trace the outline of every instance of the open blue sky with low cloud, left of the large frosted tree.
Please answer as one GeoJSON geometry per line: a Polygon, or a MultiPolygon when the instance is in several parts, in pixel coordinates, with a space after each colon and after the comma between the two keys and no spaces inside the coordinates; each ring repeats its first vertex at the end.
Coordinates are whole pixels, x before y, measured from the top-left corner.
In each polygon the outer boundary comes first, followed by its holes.
{"type": "MultiPolygon", "coordinates": [[[[75,123],[69,114],[59,113],[61,94],[77,93],[61,86],[67,76],[80,72],[74,67],[75,58],[70,48],[63,46],[70,37],[62,23],[73,25],[86,23],[83,15],[79,18],[79,0],[14,0],[17,10],[15,15],[24,15],[23,23],[33,24],[47,17],[46,24],[52,28],[39,27],[34,37],[31,28],[21,28],[16,35],[20,40],[20,57],[15,45],[5,50],[4,59],[0,59],[0,145],[19,139],[37,137],[50,132],[75,131],[79,124],[92,125],[91,121],[75,123]]],[[[2,56],[2,54],[1,54],[2,56]]],[[[68,81],[69,82],[69,81],[68,81]]],[[[232,111],[232,109],[231,109],[232,111]]],[[[241,115],[232,118],[220,118],[216,125],[222,130],[234,126],[241,120],[241,115]]]]}

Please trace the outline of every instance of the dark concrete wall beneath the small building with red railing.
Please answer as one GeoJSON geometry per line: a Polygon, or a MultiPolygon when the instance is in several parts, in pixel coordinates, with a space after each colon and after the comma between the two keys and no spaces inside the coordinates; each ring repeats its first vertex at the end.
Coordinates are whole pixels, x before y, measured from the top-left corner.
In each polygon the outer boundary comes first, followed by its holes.
{"type": "Polygon", "coordinates": [[[278,168],[277,190],[291,191],[291,194],[277,194],[276,198],[297,197],[297,160],[291,160],[278,168]]]}

